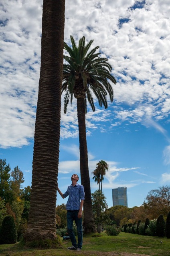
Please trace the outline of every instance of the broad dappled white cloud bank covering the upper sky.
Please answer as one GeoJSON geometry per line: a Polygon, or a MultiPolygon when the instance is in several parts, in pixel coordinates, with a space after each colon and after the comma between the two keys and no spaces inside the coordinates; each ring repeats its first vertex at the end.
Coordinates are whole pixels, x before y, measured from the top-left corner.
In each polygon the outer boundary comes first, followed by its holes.
{"type": "MultiPolygon", "coordinates": [[[[93,47],[100,46],[117,78],[113,105],[127,106],[104,111],[97,105],[95,113],[89,111],[88,136],[96,129],[107,132],[106,121],[114,128],[124,121],[143,124],[147,118],[148,125],[165,134],[155,121],[164,121],[170,113],[169,2],[147,0],[142,8],[134,8],[135,3],[66,1],[65,41],[70,34],[76,40],[83,35],[87,41],[94,39],[93,47]]],[[[22,147],[34,136],[42,0],[2,0],[0,16],[0,147],[22,147]]],[[[66,115],[61,109],[61,127],[62,138],[78,136],[75,101],[66,115]]]]}

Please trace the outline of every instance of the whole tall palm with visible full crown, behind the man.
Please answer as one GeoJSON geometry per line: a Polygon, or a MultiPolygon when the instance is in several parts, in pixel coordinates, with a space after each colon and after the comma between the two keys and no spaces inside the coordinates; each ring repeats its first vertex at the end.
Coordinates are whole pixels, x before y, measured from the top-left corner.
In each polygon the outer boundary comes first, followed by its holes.
{"type": "Polygon", "coordinates": [[[81,183],[85,188],[84,202],[84,227],[85,232],[96,232],[93,219],[91,188],[87,155],[87,140],[85,114],[87,113],[87,100],[93,111],[95,105],[93,95],[97,98],[99,106],[107,108],[107,93],[111,102],[113,101],[113,88],[109,81],[116,83],[111,74],[112,67],[107,58],[101,58],[100,52],[96,52],[99,46],[89,50],[93,40],[85,44],[85,37],[79,39],[78,46],[70,36],[72,47],[64,43],[64,48],[68,56],[64,56],[63,65],[63,85],[62,93],[64,96],[64,113],[67,105],[72,103],[73,95],[77,99],[77,118],[79,126],[79,148],[80,148],[80,173],[81,183]]]}

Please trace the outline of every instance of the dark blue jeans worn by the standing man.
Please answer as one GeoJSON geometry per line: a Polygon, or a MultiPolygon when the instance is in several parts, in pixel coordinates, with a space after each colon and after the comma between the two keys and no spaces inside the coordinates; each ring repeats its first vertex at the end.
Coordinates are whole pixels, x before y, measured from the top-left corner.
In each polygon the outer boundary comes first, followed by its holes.
{"type": "Polygon", "coordinates": [[[82,231],[82,218],[78,218],[78,211],[69,211],[67,210],[67,231],[69,233],[69,237],[71,239],[71,243],[75,248],[82,248],[83,243],[83,231],[82,231]],[[77,226],[77,236],[78,236],[78,244],[75,239],[75,234],[73,233],[73,221],[77,226]]]}

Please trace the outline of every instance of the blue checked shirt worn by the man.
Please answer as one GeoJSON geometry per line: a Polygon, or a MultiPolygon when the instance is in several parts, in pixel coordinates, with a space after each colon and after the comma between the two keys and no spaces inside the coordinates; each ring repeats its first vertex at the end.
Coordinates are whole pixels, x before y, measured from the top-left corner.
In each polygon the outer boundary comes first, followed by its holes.
{"type": "Polygon", "coordinates": [[[66,210],[75,211],[80,209],[80,200],[85,200],[84,187],[80,184],[75,186],[68,186],[67,191],[63,194],[66,198],[69,196],[69,199],[66,204],[66,210]]]}

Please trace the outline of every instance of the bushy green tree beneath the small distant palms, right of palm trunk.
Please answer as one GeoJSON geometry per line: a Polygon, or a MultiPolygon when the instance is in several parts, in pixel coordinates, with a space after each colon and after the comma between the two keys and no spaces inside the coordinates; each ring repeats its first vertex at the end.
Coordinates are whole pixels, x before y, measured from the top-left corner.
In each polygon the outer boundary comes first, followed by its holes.
{"type": "Polygon", "coordinates": [[[91,194],[92,196],[92,205],[93,205],[93,215],[95,219],[95,223],[97,224],[97,232],[101,233],[102,224],[108,219],[108,215],[106,210],[108,208],[106,197],[103,192],[99,192],[96,190],[91,194]]]}

